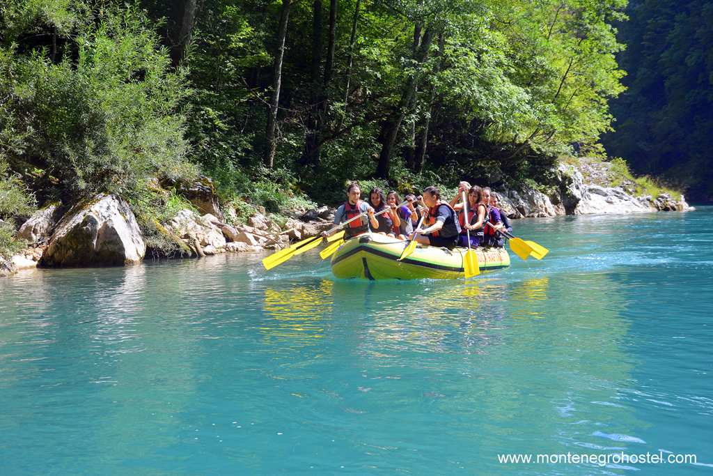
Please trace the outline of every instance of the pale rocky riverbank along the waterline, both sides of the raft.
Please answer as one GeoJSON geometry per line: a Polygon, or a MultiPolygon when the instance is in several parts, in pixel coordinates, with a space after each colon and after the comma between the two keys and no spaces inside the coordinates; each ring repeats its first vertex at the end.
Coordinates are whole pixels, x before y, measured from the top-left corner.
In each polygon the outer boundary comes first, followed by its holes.
{"type": "MultiPolygon", "coordinates": [[[[495,193],[503,211],[515,219],[692,209],[683,196],[637,196],[635,184],[626,181],[607,186],[609,169],[609,163],[600,161],[562,163],[553,170],[553,181],[544,191],[520,188],[495,193]]],[[[247,223],[231,224],[237,218],[235,210],[221,209],[210,188],[197,185],[195,190],[187,189],[185,196],[195,210],[186,208],[165,223],[157,223],[158,231],[175,243],[175,255],[182,257],[279,250],[333,226],[334,209],[327,206],[290,211],[282,226],[264,209],[258,209],[247,223]]],[[[64,213],[61,210],[60,204],[53,203],[21,226],[19,235],[30,246],[10,260],[0,258],[0,276],[37,266],[130,265],[147,255],[164,256],[147,245],[130,206],[117,196],[100,194],[64,213]]]]}

